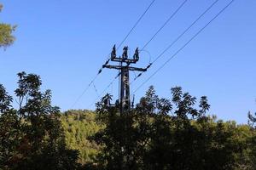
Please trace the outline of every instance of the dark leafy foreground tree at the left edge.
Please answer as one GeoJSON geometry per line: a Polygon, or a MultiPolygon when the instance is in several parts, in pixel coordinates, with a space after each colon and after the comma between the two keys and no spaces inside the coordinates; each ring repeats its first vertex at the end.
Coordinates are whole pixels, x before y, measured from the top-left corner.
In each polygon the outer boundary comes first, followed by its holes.
{"type": "Polygon", "coordinates": [[[20,72],[13,98],[0,86],[0,166],[3,169],[76,169],[77,150],[68,150],[60,111],[40,77],[20,72]]]}

